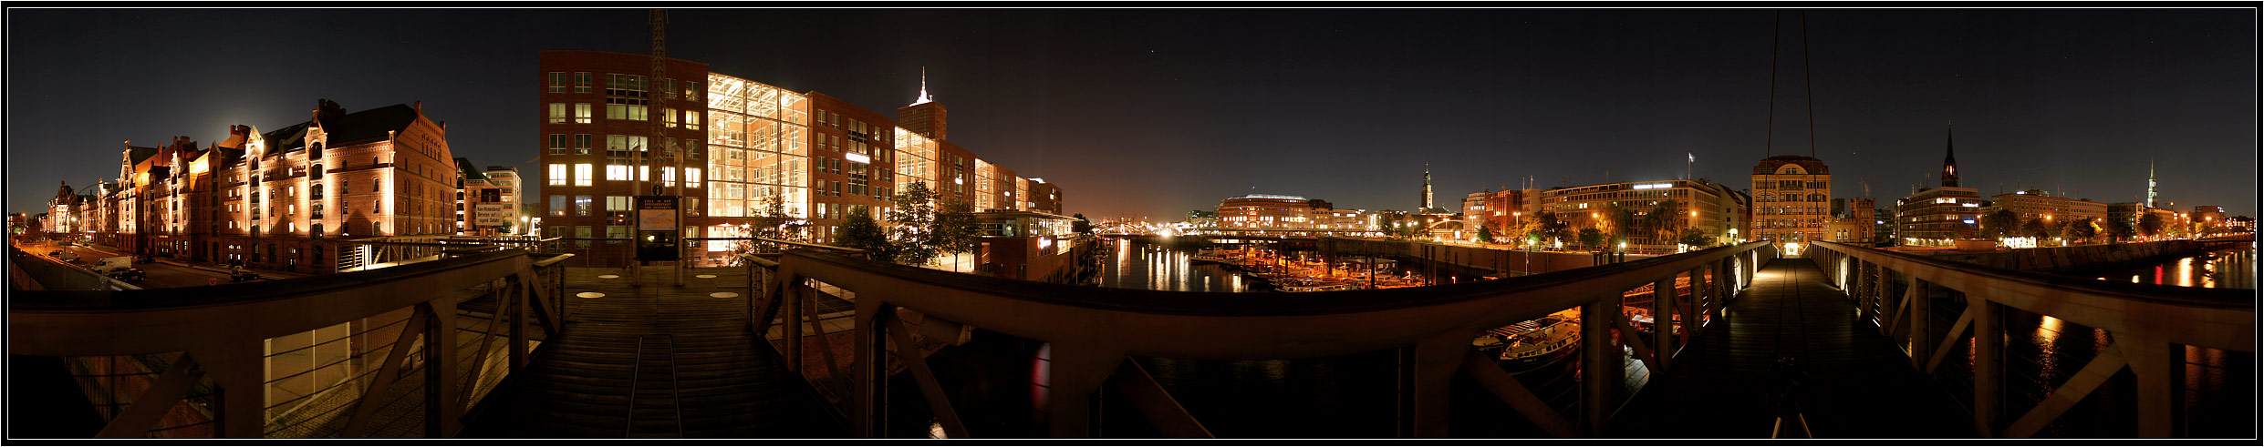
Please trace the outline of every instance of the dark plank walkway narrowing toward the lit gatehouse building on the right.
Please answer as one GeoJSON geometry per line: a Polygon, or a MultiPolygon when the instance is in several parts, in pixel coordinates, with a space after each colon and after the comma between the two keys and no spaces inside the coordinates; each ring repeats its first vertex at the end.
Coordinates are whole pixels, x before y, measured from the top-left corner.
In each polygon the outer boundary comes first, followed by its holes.
{"type": "MultiPolygon", "coordinates": [[[[1770,438],[1770,363],[1798,357],[1800,409],[1816,438],[1976,438],[1972,415],[1854,318],[1809,260],[1770,260],[1723,321],[1612,418],[1612,438],[1770,438]]],[[[1793,431],[1795,433],[1795,431],[1793,431]]]]}

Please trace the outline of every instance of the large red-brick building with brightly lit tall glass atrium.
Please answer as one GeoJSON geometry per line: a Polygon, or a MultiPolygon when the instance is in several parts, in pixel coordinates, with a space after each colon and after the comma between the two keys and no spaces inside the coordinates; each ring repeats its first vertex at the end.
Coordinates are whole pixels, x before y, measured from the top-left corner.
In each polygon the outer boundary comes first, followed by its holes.
{"type": "MultiPolygon", "coordinates": [[[[974,210],[1060,214],[1057,185],[946,142],[944,106],[926,86],[890,117],[822,93],[706,72],[697,61],[668,59],[668,79],[650,81],[650,54],[546,50],[539,59],[541,167],[530,183],[541,190],[528,201],[541,205],[543,237],[571,239],[566,248],[589,264],[629,260],[638,160],[652,165],[638,176],[666,194],[681,187],[681,237],[740,237],[777,203],[806,224],[799,237],[831,242],[851,212],[885,217],[890,196],[910,183],[974,210]],[[659,138],[650,120],[661,120],[659,138]]],[[[709,242],[686,260],[727,262],[731,244],[709,242]]]]}

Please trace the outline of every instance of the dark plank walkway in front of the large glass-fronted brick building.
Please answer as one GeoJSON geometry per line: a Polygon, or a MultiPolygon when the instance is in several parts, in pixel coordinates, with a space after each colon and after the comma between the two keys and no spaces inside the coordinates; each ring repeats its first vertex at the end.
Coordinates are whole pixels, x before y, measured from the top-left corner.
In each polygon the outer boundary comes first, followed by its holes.
{"type": "Polygon", "coordinates": [[[489,397],[478,420],[466,420],[462,436],[847,436],[808,384],[786,373],[772,348],[756,345],[763,341],[747,323],[745,269],[691,269],[684,287],[668,280],[661,266],[648,266],[645,287],[629,287],[625,269],[568,269],[566,327],[528,373],[489,397]],[[586,291],[604,296],[577,296],[586,291]]]}

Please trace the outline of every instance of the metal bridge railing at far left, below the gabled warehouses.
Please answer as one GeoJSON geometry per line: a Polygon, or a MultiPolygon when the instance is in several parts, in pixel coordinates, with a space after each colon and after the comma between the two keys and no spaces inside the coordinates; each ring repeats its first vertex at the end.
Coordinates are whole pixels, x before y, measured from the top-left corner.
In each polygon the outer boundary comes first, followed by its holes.
{"type": "Polygon", "coordinates": [[[500,251],[249,284],[23,291],[9,300],[9,352],[77,363],[106,409],[97,438],[446,438],[528,363],[532,339],[557,334],[564,257],[500,251]]]}

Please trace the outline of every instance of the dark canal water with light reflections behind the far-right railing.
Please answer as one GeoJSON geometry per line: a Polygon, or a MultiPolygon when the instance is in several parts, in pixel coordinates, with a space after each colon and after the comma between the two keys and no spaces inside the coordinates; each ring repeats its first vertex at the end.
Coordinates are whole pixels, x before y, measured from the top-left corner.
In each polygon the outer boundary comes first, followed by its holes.
{"type": "MultiPolygon", "coordinates": [[[[2137,266],[2137,269],[2108,269],[2108,271],[2083,271],[2078,275],[2112,280],[2112,282],[2139,282],[2139,284],[2171,284],[2171,287],[2210,287],[2214,289],[2226,275],[2237,275],[2241,284],[2255,284],[2255,271],[2226,269],[2221,260],[2235,253],[2246,253],[2248,260],[2255,257],[2255,248],[2248,251],[2219,251],[2198,257],[2182,257],[2173,262],[2137,266]]],[[[2010,327],[2006,341],[2004,359],[2004,395],[2001,420],[2017,420],[2022,413],[2033,409],[2051,388],[2067,384],[2085,363],[2099,357],[2115,339],[2106,330],[2074,325],[2060,318],[2029,314],[2008,309],[2004,312],[2004,323],[2010,327]]],[[[1956,318],[1956,309],[1936,309],[1936,327],[1949,327],[1956,318]],[[1943,316],[1949,316],[1947,321],[1943,316]]],[[[1938,375],[1943,386],[1952,388],[1952,395],[1963,400],[1967,409],[1972,406],[1972,343],[1970,339],[1958,345],[1965,359],[1956,368],[1945,368],[1947,375],[1938,375]]],[[[2212,348],[2192,348],[2182,352],[2182,368],[2176,370],[2173,382],[2182,388],[2185,400],[2173,406],[2173,424],[2180,438],[2255,438],[2257,429],[2257,357],[2253,352],[2228,352],[2212,348]]],[[[2035,438],[2130,438],[2137,436],[2135,422],[2135,377],[2128,368],[2110,377],[2087,397],[2083,397],[2074,409],[2060,415],[2056,422],[2047,424],[2035,438]]]]}

